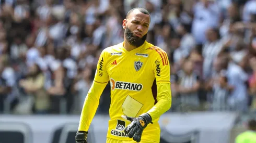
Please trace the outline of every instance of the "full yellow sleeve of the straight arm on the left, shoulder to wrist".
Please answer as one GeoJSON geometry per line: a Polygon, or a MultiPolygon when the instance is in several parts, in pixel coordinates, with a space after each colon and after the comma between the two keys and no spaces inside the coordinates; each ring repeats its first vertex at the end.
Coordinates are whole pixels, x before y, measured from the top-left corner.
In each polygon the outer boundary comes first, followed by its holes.
{"type": "Polygon", "coordinates": [[[109,75],[106,68],[107,55],[102,51],[95,73],[94,82],[85,98],[84,106],[80,116],[78,131],[88,131],[92,119],[99,106],[100,96],[108,84],[109,75]]]}

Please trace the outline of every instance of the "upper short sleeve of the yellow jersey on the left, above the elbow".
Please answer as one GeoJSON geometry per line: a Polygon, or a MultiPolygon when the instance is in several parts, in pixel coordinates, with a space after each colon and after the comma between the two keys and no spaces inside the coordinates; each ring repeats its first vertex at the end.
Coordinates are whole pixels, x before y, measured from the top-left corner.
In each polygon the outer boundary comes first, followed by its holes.
{"type": "Polygon", "coordinates": [[[107,83],[109,81],[109,75],[106,68],[107,53],[103,50],[100,54],[99,61],[97,63],[97,70],[95,72],[94,81],[98,83],[107,83]]]}

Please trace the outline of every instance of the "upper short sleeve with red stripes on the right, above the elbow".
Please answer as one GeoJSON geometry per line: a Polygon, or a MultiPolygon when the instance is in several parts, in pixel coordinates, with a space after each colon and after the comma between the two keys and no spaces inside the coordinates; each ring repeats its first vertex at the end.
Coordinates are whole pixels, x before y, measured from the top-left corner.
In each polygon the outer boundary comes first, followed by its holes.
{"type": "Polygon", "coordinates": [[[154,74],[157,83],[170,83],[170,64],[166,52],[158,47],[154,56],[154,74]]]}

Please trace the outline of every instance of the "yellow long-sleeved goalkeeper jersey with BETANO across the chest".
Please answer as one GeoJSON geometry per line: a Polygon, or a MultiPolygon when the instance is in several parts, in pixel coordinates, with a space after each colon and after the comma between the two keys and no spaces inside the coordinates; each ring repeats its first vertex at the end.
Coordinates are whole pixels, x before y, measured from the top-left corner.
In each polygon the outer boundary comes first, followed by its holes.
{"type": "Polygon", "coordinates": [[[131,51],[126,51],[123,44],[120,43],[102,51],[94,84],[85,100],[79,131],[88,131],[98,107],[100,95],[110,81],[111,105],[107,137],[132,140],[123,132],[124,127],[131,122],[123,120],[121,115],[137,117],[148,112],[154,124],[149,124],[144,129],[142,140],[159,142],[158,120],[160,115],[171,106],[170,65],[167,54],[164,50],[147,42],[131,51]],[[152,89],[154,81],[156,86],[152,89]],[[154,90],[158,91],[155,97],[154,90]]]}

